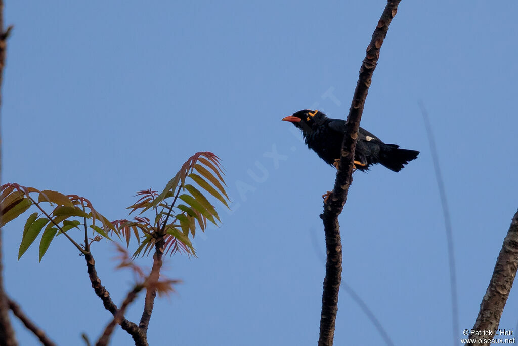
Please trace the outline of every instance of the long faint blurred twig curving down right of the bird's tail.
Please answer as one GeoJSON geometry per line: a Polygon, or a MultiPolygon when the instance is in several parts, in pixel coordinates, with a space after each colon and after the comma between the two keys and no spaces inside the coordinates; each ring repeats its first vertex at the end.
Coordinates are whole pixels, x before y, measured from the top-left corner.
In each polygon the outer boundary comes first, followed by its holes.
{"type": "Polygon", "coordinates": [[[448,262],[450,267],[450,294],[452,297],[452,336],[453,345],[458,343],[458,297],[457,297],[457,273],[455,267],[455,252],[453,247],[453,230],[450,219],[450,208],[448,207],[448,199],[446,198],[446,189],[442,181],[441,168],[439,166],[439,156],[437,154],[437,147],[435,146],[434,133],[431,131],[430,119],[428,112],[424,107],[422,101],[419,101],[421,113],[423,114],[424,126],[426,134],[428,135],[428,143],[430,144],[431,159],[434,162],[435,178],[437,180],[437,188],[439,189],[439,196],[441,198],[442,215],[444,217],[444,227],[446,229],[446,242],[448,246],[448,262]]]}

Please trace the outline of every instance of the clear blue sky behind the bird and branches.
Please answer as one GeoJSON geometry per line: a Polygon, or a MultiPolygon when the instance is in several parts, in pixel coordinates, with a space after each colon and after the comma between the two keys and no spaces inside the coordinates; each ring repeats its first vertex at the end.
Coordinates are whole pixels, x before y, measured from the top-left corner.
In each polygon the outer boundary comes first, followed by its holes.
{"type": "MultiPolygon", "coordinates": [[[[110,219],[135,191],[161,189],[197,151],[226,169],[233,200],[223,225],[195,238],[199,258],[174,256],[183,280],[155,303],[150,344],[314,344],[324,234],[321,195],[335,171],[280,119],[318,108],[348,113],[384,1],[7,2],[2,86],[4,182],[76,193],[110,219]],[[274,160],[271,153],[282,155],[274,160]],[[270,154],[268,154],[270,153],[270,154]]],[[[452,343],[448,254],[418,102],[428,110],[447,188],[459,337],[473,326],[516,212],[514,57],[518,4],[400,4],[362,118],[387,143],[420,150],[399,173],[357,172],[340,216],[343,281],[396,345],[452,343]],[[434,336],[431,338],[430,336],[434,336]],[[419,339],[418,339],[419,338],[419,339]]],[[[4,228],[8,294],[59,344],[102,333],[109,313],[84,258],[56,239],[17,261],[23,220],[4,228]]],[[[120,303],[132,283],[114,246],[92,249],[120,303]]],[[[151,258],[139,261],[151,266],[151,258]]],[[[500,327],[515,329],[511,292],[500,327]]],[[[138,320],[142,299],[127,314],[138,320]]],[[[22,345],[35,344],[15,322],[22,345]]],[[[113,345],[130,344],[118,329],[113,345]]],[[[335,344],[384,344],[341,290],[335,344]]]]}

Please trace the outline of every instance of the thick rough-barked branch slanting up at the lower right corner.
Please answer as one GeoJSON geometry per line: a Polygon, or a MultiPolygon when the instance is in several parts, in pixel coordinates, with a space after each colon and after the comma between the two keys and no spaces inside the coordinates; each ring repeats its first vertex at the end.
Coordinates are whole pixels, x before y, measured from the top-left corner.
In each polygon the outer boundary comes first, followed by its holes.
{"type": "MultiPolygon", "coordinates": [[[[514,214],[507,236],[503,240],[502,250],[496,260],[493,276],[487,286],[486,293],[480,303],[480,311],[473,330],[494,331],[498,328],[503,307],[506,306],[509,292],[513,286],[516,270],[518,269],[518,211],[514,214]]],[[[481,333],[479,333],[481,334],[481,333]]],[[[491,335],[470,334],[470,339],[491,340],[491,335]]]]}

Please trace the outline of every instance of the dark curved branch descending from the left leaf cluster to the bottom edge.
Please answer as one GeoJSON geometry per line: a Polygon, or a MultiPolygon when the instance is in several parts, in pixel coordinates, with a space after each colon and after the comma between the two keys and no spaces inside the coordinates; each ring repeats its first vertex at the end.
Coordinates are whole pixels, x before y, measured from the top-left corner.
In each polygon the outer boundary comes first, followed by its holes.
{"type": "MultiPolygon", "coordinates": [[[[113,316],[116,316],[119,312],[119,309],[111,300],[110,293],[106,287],[100,283],[99,276],[95,270],[95,260],[92,254],[88,253],[84,256],[84,258],[87,261],[87,270],[90,276],[90,282],[92,283],[92,287],[95,290],[95,294],[103,301],[105,309],[111,312],[113,316]]],[[[136,346],[148,346],[146,335],[140,331],[135,323],[126,320],[125,317],[122,316],[120,318],[120,325],[122,329],[126,330],[127,333],[132,336],[136,346]]]]}

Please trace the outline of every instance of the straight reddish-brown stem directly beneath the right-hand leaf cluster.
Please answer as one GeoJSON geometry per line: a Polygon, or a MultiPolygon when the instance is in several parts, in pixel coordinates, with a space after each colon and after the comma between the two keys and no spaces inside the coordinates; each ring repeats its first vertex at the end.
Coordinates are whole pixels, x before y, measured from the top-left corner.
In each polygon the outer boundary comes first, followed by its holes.
{"type": "MultiPolygon", "coordinates": [[[[164,223],[165,225],[165,223],[164,223]]],[[[160,269],[162,268],[162,256],[164,255],[165,240],[164,237],[160,237],[155,243],[155,254],[153,255],[153,267],[149,274],[146,288],[146,299],[144,301],[144,311],[140,318],[138,325],[139,329],[144,335],[148,333],[149,320],[151,319],[151,313],[153,312],[154,301],[156,297],[156,283],[160,278],[160,269]]]]}

